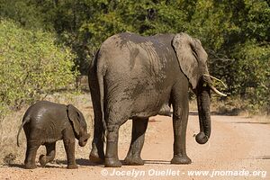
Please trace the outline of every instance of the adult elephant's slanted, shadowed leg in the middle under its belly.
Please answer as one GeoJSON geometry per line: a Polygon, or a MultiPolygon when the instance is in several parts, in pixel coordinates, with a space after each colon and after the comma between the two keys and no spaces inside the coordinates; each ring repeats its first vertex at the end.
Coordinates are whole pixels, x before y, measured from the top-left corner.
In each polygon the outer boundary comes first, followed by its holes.
{"type": "Polygon", "coordinates": [[[130,150],[125,158],[127,165],[144,165],[144,161],[140,157],[141,149],[143,147],[145,131],[148,127],[148,118],[140,119],[134,118],[132,120],[132,138],[130,143],[130,150]]]}

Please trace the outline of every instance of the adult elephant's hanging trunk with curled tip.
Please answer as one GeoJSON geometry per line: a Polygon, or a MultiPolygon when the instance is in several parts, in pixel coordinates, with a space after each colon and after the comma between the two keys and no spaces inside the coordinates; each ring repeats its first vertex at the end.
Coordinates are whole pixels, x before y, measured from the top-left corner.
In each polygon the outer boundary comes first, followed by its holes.
{"type": "Polygon", "coordinates": [[[211,135],[210,85],[201,80],[197,86],[196,94],[200,120],[200,133],[196,135],[196,141],[199,144],[204,144],[211,135]]]}

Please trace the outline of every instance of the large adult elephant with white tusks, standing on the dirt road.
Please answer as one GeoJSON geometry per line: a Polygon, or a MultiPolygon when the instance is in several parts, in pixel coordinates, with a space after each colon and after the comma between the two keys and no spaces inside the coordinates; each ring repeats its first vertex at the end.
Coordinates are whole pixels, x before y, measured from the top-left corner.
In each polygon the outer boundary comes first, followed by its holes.
{"type": "Polygon", "coordinates": [[[105,40],[89,71],[94,106],[94,139],[90,160],[105,166],[121,166],[118,157],[119,128],[132,119],[132,138],[125,163],[143,165],[140,157],[150,116],[173,106],[174,157],[172,164],[189,164],[185,151],[188,89],[197,96],[200,133],[204,144],[211,134],[210,89],[207,53],[200,40],[186,33],[142,37],[124,32],[105,40]],[[106,132],[106,133],[105,133],[106,132]],[[106,154],[103,153],[103,136],[106,154]]]}

